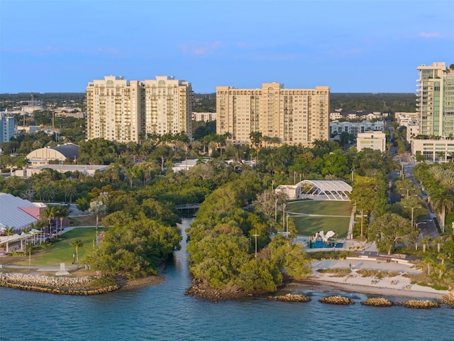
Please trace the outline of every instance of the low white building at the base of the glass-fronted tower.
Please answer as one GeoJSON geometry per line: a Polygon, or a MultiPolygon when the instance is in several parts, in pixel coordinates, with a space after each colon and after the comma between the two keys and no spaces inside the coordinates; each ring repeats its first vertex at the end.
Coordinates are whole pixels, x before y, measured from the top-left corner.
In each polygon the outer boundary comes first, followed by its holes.
{"type": "Polygon", "coordinates": [[[421,153],[424,161],[429,162],[448,162],[454,156],[454,139],[412,139],[411,153],[421,153]]]}

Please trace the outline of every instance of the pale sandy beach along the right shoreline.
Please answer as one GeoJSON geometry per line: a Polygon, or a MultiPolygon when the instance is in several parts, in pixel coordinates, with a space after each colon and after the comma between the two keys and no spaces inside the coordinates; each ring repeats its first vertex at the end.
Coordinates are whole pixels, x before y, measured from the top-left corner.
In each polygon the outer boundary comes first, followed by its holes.
{"type": "Polygon", "coordinates": [[[411,280],[404,274],[418,274],[419,269],[410,263],[384,262],[376,259],[351,258],[344,260],[326,260],[312,262],[313,273],[306,281],[293,283],[302,288],[314,288],[321,291],[340,291],[354,293],[370,293],[380,296],[402,296],[410,298],[433,298],[441,299],[449,291],[438,291],[426,286],[411,284],[411,280]],[[321,274],[317,269],[344,268],[348,269],[351,264],[350,274],[339,277],[339,274],[321,274]],[[395,271],[398,276],[381,279],[362,277],[357,274],[359,269],[375,269],[381,271],[395,271]]]}

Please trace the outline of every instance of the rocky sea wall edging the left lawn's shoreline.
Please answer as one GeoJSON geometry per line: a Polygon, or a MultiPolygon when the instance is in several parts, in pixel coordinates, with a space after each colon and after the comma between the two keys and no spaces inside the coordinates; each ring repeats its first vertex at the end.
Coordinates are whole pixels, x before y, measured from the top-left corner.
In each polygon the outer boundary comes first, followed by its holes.
{"type": "Polygon", "coordinates": [[[92,277],[52,277],[0,272],[0,286],[62,295],[98,295],[118,290],[118,286],[94,288],[92,277]]]}

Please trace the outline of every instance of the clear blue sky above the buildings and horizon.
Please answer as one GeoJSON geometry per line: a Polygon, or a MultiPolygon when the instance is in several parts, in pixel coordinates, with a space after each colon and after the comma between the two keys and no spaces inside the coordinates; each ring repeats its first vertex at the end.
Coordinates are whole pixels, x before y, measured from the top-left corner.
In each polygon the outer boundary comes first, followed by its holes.
{"type": "Polygon", "coordinates": [[[84,92],[104,75],[415,92],[454,63],[454,1],[0,0],[0,92],[84,92]]]}

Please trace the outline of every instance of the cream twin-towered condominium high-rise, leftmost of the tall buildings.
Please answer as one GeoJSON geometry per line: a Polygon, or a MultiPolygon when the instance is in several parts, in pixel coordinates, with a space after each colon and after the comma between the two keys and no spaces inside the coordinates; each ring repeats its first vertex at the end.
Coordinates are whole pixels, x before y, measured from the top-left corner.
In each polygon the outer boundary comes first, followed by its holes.
{"type": "Polygon", "coordinates": [[[140,135],[184,133],[192,139],[192,86],[173,77],[106,76],[87,87],[87,139],[138,142],[140,135]]]}

